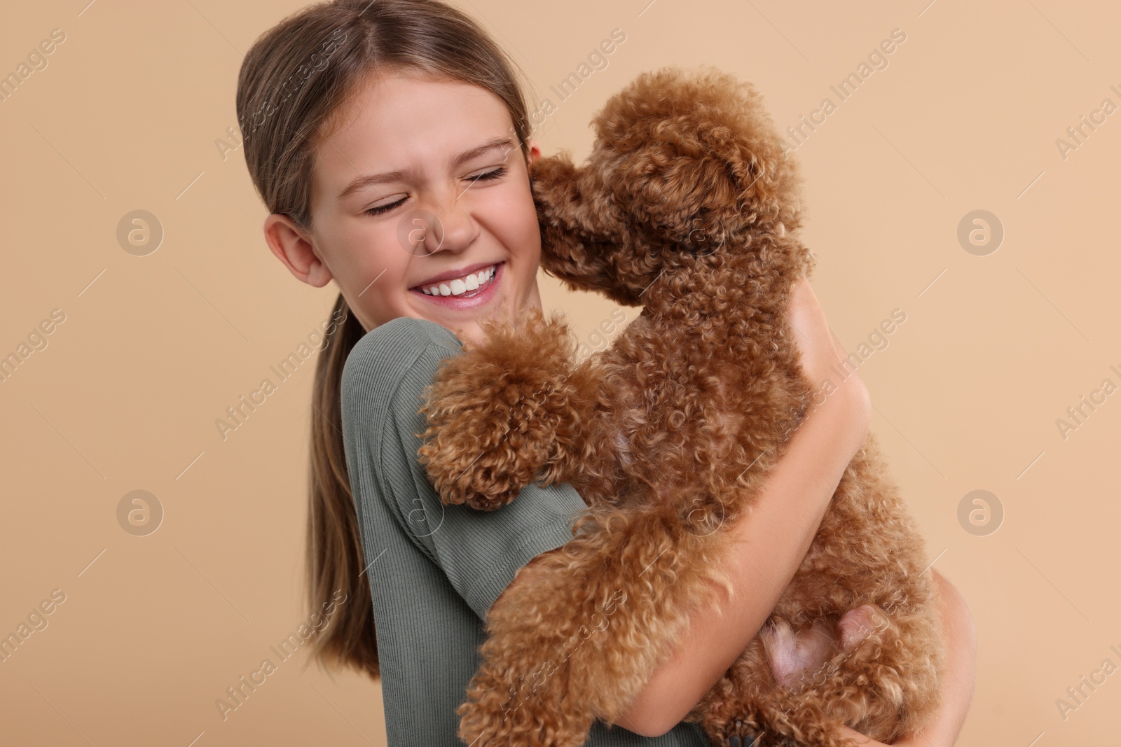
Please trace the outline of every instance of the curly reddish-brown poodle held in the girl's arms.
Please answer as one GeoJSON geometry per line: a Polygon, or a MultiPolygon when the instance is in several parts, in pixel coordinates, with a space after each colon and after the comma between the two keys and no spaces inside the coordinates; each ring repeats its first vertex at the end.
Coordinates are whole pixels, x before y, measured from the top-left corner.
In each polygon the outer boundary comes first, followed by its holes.
{"type": "MultiPolygon", "coordinates": [[[[724,529],[750,506],[812,399],[785,310],[812,252],[798,176],[760,95],[715,68],[639,76],[594,120],[589,161],[531,177],[543,265],[643,309],[577,361],[559,316],[487,325],[428,390],[420,458],[447,502],[495,508],[534,480],[590,505],[487,619],[460,707],[474,747],[584,743],[613,723],[728,587],[724,529]]],[[[714,744],[881,741],[938,706],[944,653],[921,539],[874,439],[849,465],[770,619],[689,713],[714,744]],[[821,638],[816,672],[800,654],[821,638]],[[834,636],[835,638],[835,636],[834,636]],[[862,639],[863,638],[863,639],[862,639]],[[830,657],[831,656],[831,657],[830,657]]]]}

